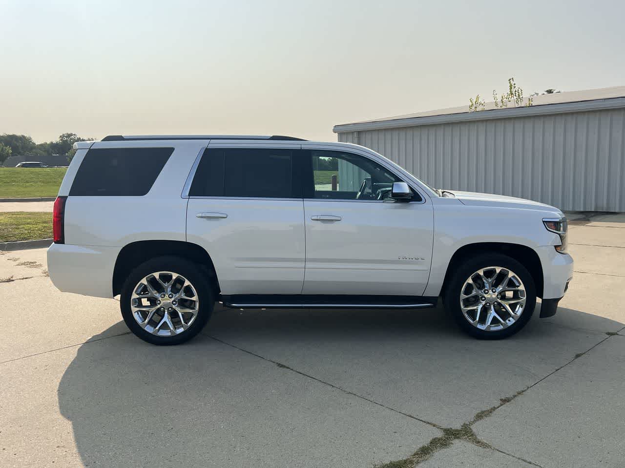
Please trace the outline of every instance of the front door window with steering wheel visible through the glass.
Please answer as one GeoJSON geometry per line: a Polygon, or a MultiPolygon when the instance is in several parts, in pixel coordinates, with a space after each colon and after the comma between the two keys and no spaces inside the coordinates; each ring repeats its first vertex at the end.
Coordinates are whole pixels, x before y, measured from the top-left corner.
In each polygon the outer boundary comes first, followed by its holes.
{"type": "Polygon", "coordinates": [[[371,159],[337,151],[311,151],[312,198],[387,200],[399,177],[371,159]]]}

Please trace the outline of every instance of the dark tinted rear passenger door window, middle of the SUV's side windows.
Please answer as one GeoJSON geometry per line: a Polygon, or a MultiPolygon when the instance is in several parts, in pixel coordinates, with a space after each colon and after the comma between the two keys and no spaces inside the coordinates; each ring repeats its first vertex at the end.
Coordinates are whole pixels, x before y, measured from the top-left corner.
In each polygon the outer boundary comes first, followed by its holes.
{"type": "Polygon", "coordinates": [[[193,197],[292,198],[292,151],[207,149],[197,166],[193,197]]]}

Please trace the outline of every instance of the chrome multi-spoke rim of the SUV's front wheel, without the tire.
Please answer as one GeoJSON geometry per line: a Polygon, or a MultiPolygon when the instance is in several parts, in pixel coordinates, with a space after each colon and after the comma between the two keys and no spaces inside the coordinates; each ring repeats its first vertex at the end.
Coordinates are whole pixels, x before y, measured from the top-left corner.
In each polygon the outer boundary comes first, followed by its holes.
{"type": "Polygon", "coordinates": [[[519,276],[502,266],[487,266],[473,273],[460,291],[460,308],[472,326],[497,331],[514,324],[526,303],[519,276]]]}

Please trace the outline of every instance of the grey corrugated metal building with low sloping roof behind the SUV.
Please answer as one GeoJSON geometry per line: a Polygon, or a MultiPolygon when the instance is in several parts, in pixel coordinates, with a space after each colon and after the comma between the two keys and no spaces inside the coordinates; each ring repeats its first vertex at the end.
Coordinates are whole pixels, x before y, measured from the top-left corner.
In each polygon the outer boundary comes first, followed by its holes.
{"type": "Polygon", "coordinates": [[[339,142],[386,156],[437,188],[625,211],[625,86],[335,125],[339,142]]]}

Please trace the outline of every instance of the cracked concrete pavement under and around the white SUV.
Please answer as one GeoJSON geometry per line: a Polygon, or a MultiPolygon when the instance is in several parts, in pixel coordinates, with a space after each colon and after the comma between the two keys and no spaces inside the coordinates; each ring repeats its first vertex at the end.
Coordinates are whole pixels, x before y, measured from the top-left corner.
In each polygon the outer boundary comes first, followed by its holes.
{"type": "Polygon", "coordinates": [[[116,300],[0,255],[3,467],[622,467],[625,216],[571,223],[556,316],[504,341],[426,311],[217,310],[134,338],[116,300]]]}

